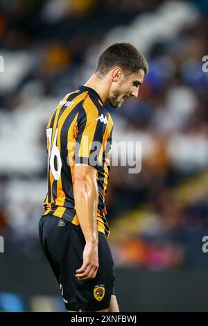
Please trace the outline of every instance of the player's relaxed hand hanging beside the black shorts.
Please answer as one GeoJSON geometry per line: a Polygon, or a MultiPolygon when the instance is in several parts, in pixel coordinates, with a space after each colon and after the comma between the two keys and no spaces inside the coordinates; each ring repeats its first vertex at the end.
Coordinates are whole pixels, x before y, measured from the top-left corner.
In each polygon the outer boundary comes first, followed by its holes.
{"type": "Polygon", "coordinates": [[[98,245],[86,243],[83,251],[83,266],[76,270],[78,280],[91,280],[98,271],[98,245]]]}

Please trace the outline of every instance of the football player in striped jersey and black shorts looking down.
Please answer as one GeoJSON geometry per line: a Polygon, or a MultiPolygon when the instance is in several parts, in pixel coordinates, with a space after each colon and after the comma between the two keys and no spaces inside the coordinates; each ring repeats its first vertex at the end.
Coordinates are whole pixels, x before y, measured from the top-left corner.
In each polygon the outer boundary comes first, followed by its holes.
{"type": "Polygon", "coordinates": [[[87,83],[62,98],[46,128],[40,242],[70,312],[119,311],[105,208],[113,122],[104,103],[119,108],[137,98],[147,71],[135,46],[113,44],[87,83]]]}

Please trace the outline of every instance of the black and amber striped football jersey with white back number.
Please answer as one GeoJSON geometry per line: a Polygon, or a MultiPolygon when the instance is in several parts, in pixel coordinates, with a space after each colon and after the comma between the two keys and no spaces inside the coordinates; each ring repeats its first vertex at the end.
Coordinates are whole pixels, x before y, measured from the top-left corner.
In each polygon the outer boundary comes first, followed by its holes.
{"type": "Polygon", "coordinates": [[[90,164],[97,170],[98,231],[108,237],[105,195],[112,128],[112,118],[94,89],[80,86],[62,98],[46,127],[48,194],[44,216],[53,214],[79,225],[73,198],[73,166],[90,164]]]}

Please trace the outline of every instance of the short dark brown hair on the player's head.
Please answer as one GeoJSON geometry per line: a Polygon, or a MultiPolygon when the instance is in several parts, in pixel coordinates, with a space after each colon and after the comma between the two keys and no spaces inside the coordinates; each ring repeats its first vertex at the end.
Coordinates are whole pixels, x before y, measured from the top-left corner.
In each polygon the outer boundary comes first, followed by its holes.
{"type": "Polygon", "coordinates": [[[98,58],[95,73],[105,76],[114,67],[121,67],[125,74],[144,70],[148,73],[148,64],[144,55],[130,43],[115,43],[103,51],[98,58]]]}

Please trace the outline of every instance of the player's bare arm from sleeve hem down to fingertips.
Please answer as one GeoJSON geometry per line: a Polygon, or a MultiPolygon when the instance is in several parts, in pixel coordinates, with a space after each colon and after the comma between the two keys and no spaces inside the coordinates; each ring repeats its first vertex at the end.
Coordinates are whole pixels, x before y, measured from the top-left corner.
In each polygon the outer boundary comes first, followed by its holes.
{"type": "Polygon", "coordinates": [[[83,265],[76,271],[78,280],[90,280],[98,271],[98,185],[93,166],[75,164],[73,169],[73,196],[76,214],[85,236],[83,265]]]}

